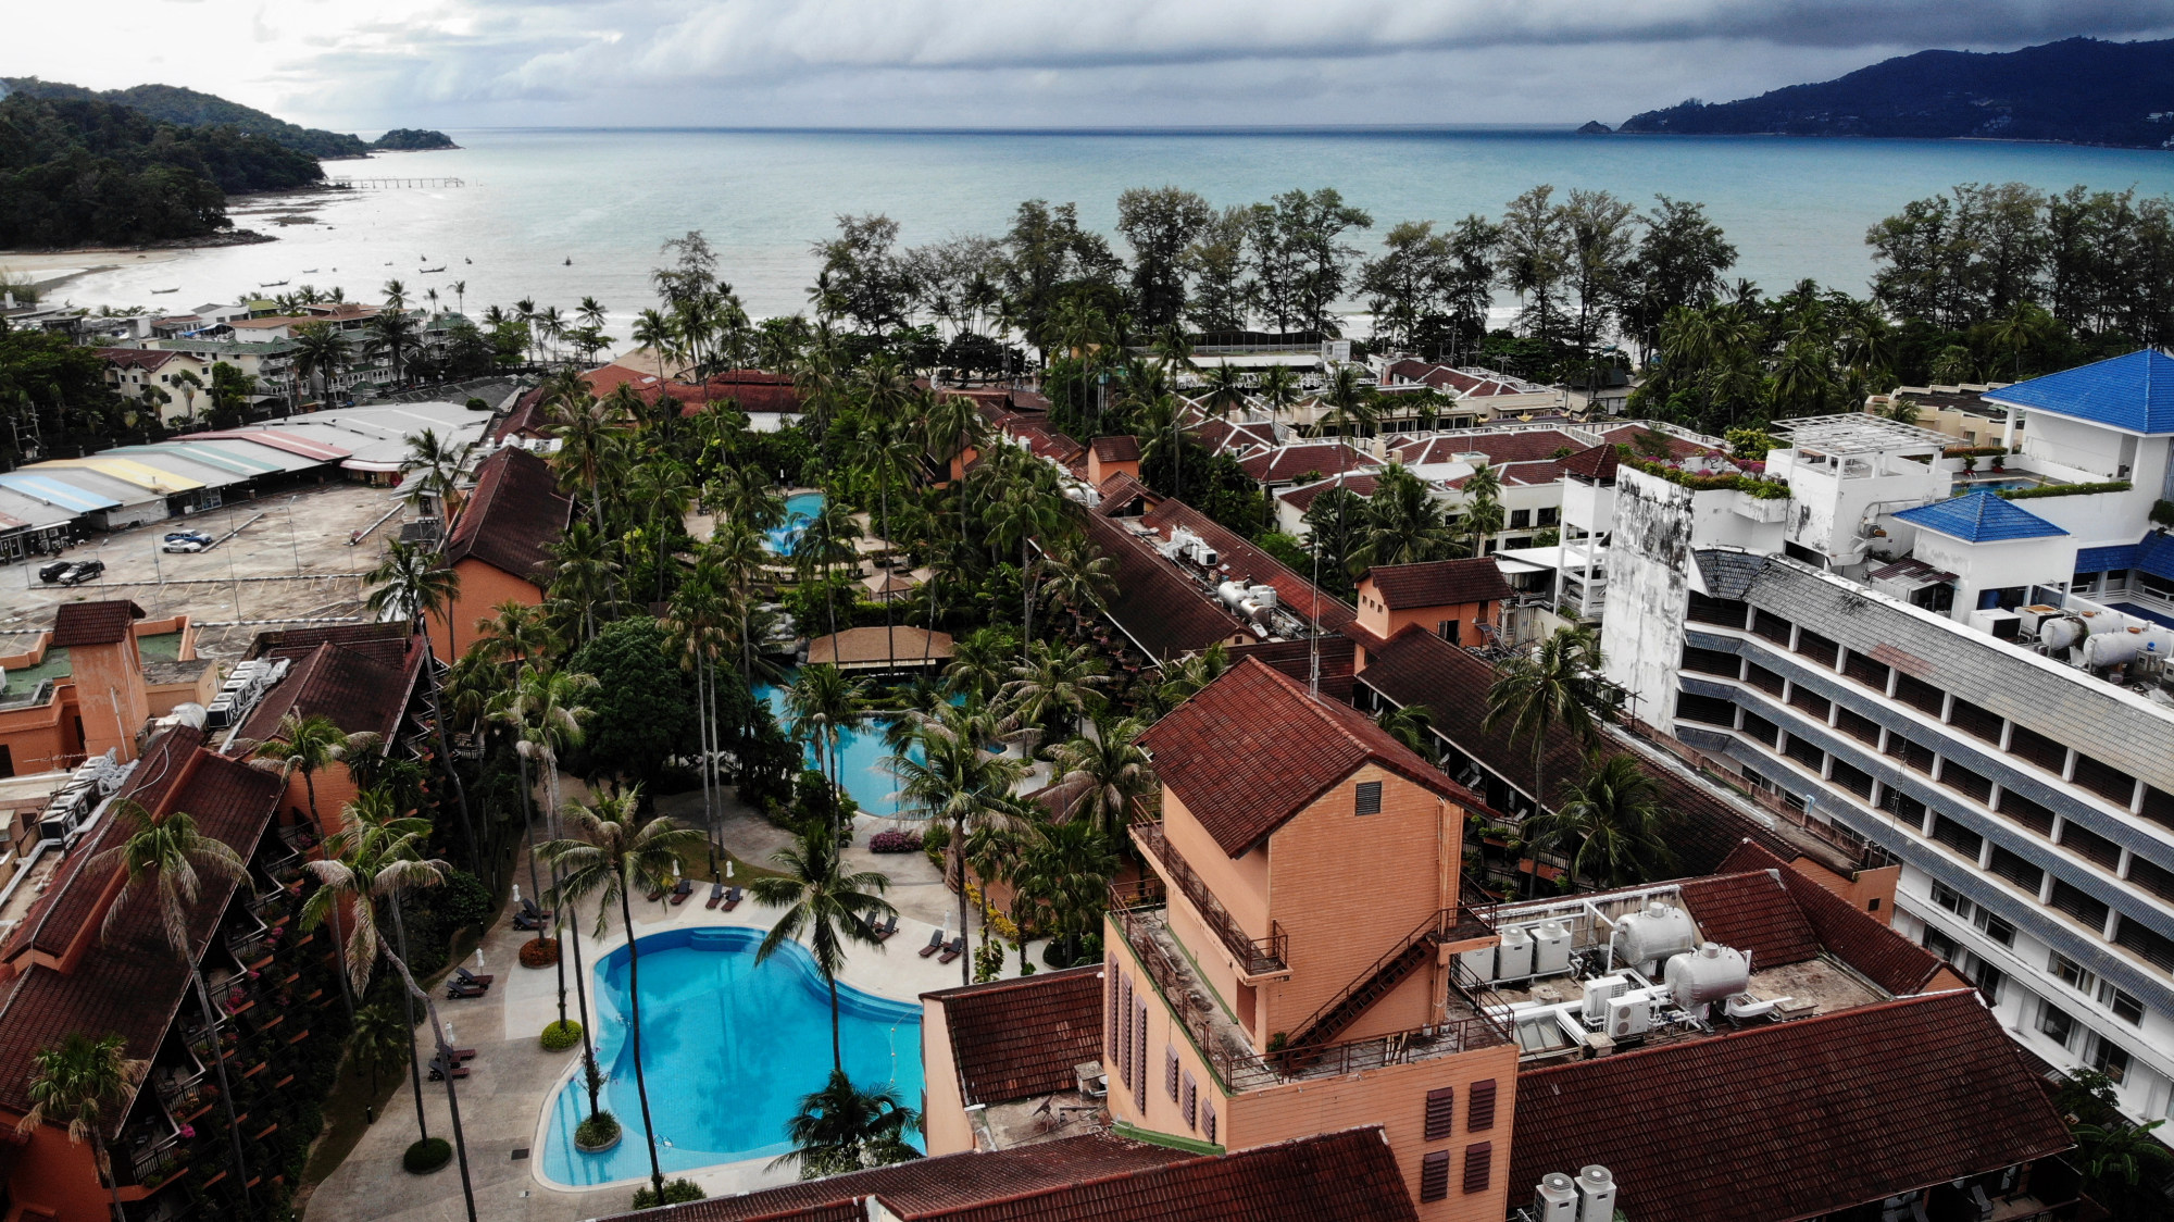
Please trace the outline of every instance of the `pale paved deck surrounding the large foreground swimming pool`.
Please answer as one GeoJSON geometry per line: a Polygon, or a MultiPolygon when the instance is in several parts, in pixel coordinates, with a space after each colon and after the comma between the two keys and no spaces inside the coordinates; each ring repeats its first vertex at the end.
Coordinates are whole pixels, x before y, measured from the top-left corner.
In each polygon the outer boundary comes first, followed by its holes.
{"type": "MultiPolygon", "coordinates": [[[[578,794],[578,783],[567,783],[567,796],[578,794]]],[[[665,813],[685,818],[694,807],[700,822],[700,794],[676,794],[659,802],[665,813]]],[[[959,963],[937,963],[922,959],[920,948],[928,944],[935,928],[957,933],[959,896],[950,891],[937,868],[924,855],[874,855],[867,852],[867,835],[889,820],[861,818],[854,848],[848,863],[854,870],[880,870],[891,876],[889,900],[898,907],[898,935],[885,950],[870,952],[854,948],[841,983],[861,992],[891,1000],[915,1000],[924,992],[959,985],[959,963]]],[[[724,820],[724,844],[737,857],[763,863],[783,848],[789,835],[772,826],[765,818],[737,802],[728,805],[724,820]]],[[[526,876],[526,870],[522,870],[526,876]]],[[[522,894],[528,894],[526,885],[522,894]]],[[[707,889],[698,889],[685,905],[646,902],[635,898],[635,931],[650,935],[683,926],[748,926],[767,928],[774,909],[763,909],[754,900],[739,905],[739,911],[722,913],[704,909],[707,889]]],[[[596,909],[587,909],[583,931],[596,928],[596,909]]],[[[596,957],[624,944],[613,918],[613,931],[602,939],[583,937],[583,963],[594,965],[596,957]]],[[[978,933],[978,931],[976,931],[978,933]]],[[[496,974],[491,992],[474,1000],[446,1000],[437,994],[439,1020],[450,1022],[457,1044],[474,1048],[470,1076],[459,1083],[461,1122],[467,1133],[470,1176],[476,1192],[476,1218],[485,1222],[576,1222],[604,1213],[622,1213],[633,1200],[637,1185],[613,1185],[598,1189],[567,1189],[541,1179],[541,1126],[544,1113],[570,1078],[580,1050],[544,1052],[537,1033],[557,1020],[559,989],[554,970],[528,970],[520,965],[515,952],[528,933],[517,933],[509,920],[500,920],[483,939],[483,968],[474,957],[467,968],[496,974]],[[515,1161],[515,1152],[526,1157],[515,1161]]],[[[1039,946],[1035,946],[1039,948],[1039,946]]],[[[1017,955],[1007,961],[1007,974],[1017,972],[1017,955]]],[[[567,963],[572,970],[572,963],[567,963]]],[[[567,981],[567,1009],[574,1007],[572,978],[567,981]]],[[[424,1083],[424,1111],[430,1118],[430,1133],[452,1135],[443,1083],[424,1083]]],[[[363,1135],[354,1152],[335,1170],[309,1200],[311,1222],[465,1222],[461,1202],[459,1168],[448,1165],[428,1176],[411,1176],[400,1170],[400,1152],[415,1142],[415,1102],[402,1087],[391,1098],[385,1115],[363,1135]]],[[[698,1172],[683,1172],[711,1196],[746,1192],[789,1183],[796,1174],[767,1170],[767,1159],[726,1163],[698,1172]]],[[[670,1176],[676,1179],[676,1176],[670,1176]]]]}

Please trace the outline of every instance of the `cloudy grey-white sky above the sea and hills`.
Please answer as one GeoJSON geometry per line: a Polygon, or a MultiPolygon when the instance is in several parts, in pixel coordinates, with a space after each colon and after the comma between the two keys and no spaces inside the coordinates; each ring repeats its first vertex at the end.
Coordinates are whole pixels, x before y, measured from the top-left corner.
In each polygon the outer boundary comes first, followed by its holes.
{"type": "Polygon", "coordinates": [[[0,76],[309,126],[1609,124],[2174,0],[0,0],[0,76]],[[124,37],[113,37],[126,30],[124,37]]]}

